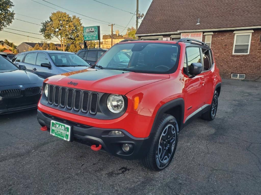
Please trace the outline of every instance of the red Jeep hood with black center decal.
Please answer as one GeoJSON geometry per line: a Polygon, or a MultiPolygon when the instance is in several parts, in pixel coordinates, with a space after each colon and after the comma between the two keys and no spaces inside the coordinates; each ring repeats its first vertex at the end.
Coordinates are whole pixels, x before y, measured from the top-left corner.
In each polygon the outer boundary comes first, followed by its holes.
{"type": "Polygon", "coordinates": [[[147,74],[88,68],[51,76],[45,79],[44,82],[64,87],[125,95],[144,85],[168,78],[168,74],[147,74]]]}

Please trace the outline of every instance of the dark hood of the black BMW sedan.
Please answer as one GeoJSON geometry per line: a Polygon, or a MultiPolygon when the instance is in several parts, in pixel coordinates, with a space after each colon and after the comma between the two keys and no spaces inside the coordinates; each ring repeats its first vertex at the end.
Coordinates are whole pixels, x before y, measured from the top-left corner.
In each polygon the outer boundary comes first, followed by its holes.
{"type": "Polygon", "coordinates": [[[43,78],[25,70],[0,70],[0,87],[8,85],[21,85],[42,83],[43,78]]]}

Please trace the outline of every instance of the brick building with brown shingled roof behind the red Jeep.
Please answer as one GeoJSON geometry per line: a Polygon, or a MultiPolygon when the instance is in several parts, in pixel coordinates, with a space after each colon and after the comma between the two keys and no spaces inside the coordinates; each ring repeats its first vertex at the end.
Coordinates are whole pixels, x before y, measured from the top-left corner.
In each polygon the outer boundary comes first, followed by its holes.
{"type": "Polygon", "coordinates": [[[260,0],[153,0],[136,36],[203,41],[222,78],[254,80],[261,76],[260,10],[260,0]]]}

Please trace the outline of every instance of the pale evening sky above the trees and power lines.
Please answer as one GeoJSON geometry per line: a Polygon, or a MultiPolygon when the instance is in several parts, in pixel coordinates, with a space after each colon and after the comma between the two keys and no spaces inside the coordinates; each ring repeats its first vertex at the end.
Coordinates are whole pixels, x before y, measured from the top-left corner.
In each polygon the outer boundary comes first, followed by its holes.
{"type": "MultiPolygon", "coordinates": [[[[16,13],[15,18],[19,20],[16,19],[13,20],[12,24],[4,28],[3,31],[0,31],[0,40],[7,39],[9,42],[14,42],[16,45],[19,45],[22,42],[38,43],[44,41],[44,40],[36,39],[36,38],[44,39],[42,35],[38,35],[40,34],[39,33],[39,30],[41,28],[40,24],[42,21],[48,20],[51,13],[56,12],[57,10],[67,12],[68,14],[71,14],[71,16],[76,15],[80,17],[81,22],[85,27],[100,25],[101,37],[103,34],[110,34],[111,27],[108,26],[109,24],[116,24],[113,26],[113,31],[115,33],[116,30],[119,30],[120,34],[126,34],[128,27],[133,26],[135,28],[136,26],[135,15],[133,15],[136,11],[136,0],[97,0],[99,2],[114,6],[118,9],[110,7],[108,5],[104,5],[95,0],[74,0],[74,1],[46,0],[47,2],[44,0],[11,0],[11,1],[14,4],[12,10],[14,10],[14,12],[16,13]],[[39,2],[41,4],[36,2],[39,2]],[[124,11],[119,9],[122,9],[124,11]],[[78,14],[73,13],[72,11],[77,12],[78,14]],[[27,22],[23,22],[21,20],[27,22]],[[127,28],[124,29],[126,26],[127,28]],[[9,31],[16,34],[4,32],[4,31],[9,31]],[[26,32],[21,32],[21,31],[26,31],[26,32]],[[31,33],[35,33],[35,34],[31,34],[31,33]],[[26,36],[22,36],[22,35],[26,35],[26,36]],[[31,38],[27,36],[36,37],[36,38],[31,38]]],[[[146,14],[151,4],[151,1],[152,0],[139,0],[139,11],[141,14],[142,13],[146,14]]],[[[139,20],[139,22],[141,21],[142,19],[139,20]]],[[[49,42],[59,43],[56,38],[53,38],[52,41],[49,42]]]]}

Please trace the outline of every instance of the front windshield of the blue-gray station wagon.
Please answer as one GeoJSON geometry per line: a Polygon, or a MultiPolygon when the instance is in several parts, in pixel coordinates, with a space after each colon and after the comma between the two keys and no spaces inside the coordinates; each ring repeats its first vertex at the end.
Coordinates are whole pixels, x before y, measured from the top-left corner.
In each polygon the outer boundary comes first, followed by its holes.
{"type": "Polygon", "coordinates": [[[90,66],[84,59],[76,54],[49,54],[55,66],[90,66]]]}

